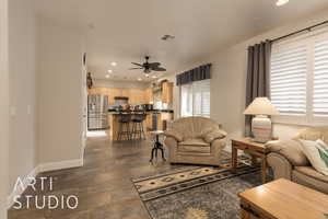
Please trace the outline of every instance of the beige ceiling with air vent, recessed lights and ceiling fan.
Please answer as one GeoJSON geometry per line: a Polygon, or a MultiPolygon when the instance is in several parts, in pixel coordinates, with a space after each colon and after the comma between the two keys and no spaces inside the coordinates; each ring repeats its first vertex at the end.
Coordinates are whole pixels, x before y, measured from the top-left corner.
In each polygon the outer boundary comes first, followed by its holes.
{"type": "MultiPolygon", "coordinates": [[[[143,81],[130,62],[160,61],[166,74],[250,36],[328,7],[326,0],[35,0],[37,13],[86,34],[95,78],[143,81]],[[165,34],[174,35],[164,42],[165,34]],[[117,62],[116,67],[110,62],[117,62]]],[[[157,74],[164,76],[165,73],[157,74]]]]}

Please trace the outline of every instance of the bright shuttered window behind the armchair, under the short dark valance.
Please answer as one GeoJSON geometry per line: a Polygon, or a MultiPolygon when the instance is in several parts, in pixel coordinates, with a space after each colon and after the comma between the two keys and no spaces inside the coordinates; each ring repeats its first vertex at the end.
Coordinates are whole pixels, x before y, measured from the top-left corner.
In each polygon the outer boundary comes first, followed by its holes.
{"type": "Polygon", "coordinates": [[[180,85],[181,116],[210,117],[210,80],[180,85]]]}

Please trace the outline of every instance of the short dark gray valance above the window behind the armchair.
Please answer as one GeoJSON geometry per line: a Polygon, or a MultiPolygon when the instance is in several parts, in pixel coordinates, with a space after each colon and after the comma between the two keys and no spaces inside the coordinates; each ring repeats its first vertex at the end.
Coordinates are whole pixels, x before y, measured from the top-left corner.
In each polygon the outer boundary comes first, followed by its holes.
{"type": "Polygon", "coordinates": [[[201,81],[211,78],[211,64],[200,66],[176,76],[176,85],[201,81]]]}

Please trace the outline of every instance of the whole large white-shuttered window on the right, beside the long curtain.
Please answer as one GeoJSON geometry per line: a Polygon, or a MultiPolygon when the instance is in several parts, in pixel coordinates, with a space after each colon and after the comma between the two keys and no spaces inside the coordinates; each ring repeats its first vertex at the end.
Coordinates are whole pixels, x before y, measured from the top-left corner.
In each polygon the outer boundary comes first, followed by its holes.
{"type": "Polygon", "coordinates": [[[280,123],[328,122],[328,34],[274,44],[270,74],[271,101],[280,123]]]}

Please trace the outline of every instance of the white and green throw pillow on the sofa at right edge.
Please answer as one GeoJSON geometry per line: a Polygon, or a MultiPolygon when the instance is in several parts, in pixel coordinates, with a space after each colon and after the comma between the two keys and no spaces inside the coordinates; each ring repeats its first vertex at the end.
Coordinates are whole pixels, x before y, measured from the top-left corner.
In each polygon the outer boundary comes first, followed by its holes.
{"type": "Polygon", "coordinates": [[[328,153],[321,150],[317,141],[300,140],[302,151],[309,160],[313,168],[324,175],[328,175],[328,153]],[[325,162],[327,161],[327,163],[325,162]]]}

